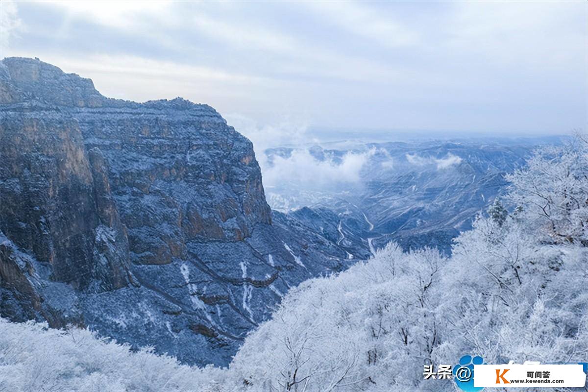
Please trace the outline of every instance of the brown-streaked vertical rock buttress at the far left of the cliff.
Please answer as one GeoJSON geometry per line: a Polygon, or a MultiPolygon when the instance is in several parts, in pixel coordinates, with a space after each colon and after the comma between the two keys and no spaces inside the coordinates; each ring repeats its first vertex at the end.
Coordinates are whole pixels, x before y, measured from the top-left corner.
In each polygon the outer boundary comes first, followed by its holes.
{"type": "Polygon", "coordinates": [[[75,289],[126,286],[126,235],[116,212],[106,220],[99,208],[110,197],[108,179],[94,186],[99,169],[88,159],[78,122],[10,83],[9,70],[0,69],[0,90],[8,92],[0,109],[0,230],[51,264],[54,280],[75,289]],[[99,235],[105,230],[113,237],[99,235]],[[115,238],[119,252],[110,250],[115,238]]]}

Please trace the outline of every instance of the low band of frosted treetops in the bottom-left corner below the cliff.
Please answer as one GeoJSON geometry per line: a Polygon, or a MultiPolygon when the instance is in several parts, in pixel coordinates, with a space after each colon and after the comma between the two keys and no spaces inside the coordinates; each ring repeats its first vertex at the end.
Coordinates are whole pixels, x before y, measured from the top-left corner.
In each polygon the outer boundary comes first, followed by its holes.
{"type": "Polygon", "coordinates": [[[181,365],[148,348],[99,339],[85,329],[0,318],[0,391],[222,391],[226,371],[181,365]]]}

